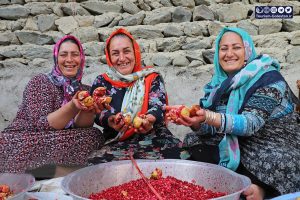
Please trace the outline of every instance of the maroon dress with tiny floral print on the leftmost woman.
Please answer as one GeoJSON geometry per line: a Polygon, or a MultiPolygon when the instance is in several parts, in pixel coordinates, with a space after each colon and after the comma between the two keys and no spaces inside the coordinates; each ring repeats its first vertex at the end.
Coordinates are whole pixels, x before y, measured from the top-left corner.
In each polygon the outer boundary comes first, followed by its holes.
{"type": "Polygon", "coordinates": [[[51,128],[47,115],[61,107],[63,97],[63,88],[47,75],[30,80],[16,118],[0,133],[0,172],[24,173],[47,164],[87,164],[88,155],[103,143],[103,135],[93,127],[51,128]]]}

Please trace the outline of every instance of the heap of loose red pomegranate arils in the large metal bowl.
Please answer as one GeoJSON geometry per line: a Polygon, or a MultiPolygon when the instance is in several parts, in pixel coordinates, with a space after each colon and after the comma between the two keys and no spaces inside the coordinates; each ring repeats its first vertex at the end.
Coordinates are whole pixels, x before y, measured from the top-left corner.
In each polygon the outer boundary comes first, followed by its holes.
{"type": "MultiPolygon", "coordinates": [[[[148,179],[164,200],[204,200],[227,195],[223,192],[213,192],[204,187],[178,180],[172,176],[159,179],[148,179]]],[[[96,194],[91,194],[92,200],[156,200],[156,196],[142,179],[137,179],[119,186],[110,187],[96,194]]]]}

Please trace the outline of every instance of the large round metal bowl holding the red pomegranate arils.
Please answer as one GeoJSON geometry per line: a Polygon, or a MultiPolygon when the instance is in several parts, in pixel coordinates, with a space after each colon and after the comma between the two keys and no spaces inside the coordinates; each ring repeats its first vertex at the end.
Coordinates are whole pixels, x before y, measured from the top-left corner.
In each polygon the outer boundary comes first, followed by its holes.
{"type": "MultiPolygon", "coordinates": [[[[224,167],[187,160],[137,160],[145,176],[149,177],[155,168],[163,171],[163,176],[173,176],[180,180],[204,186],[228,195],[216,199],[237,200],[250,186],[249,178],[224,167]]],[[[130,160],[98,164],[77,170],[62,181],[63,190],[74,199],[86,200],[91,193],[141,178],[130,160]]]]}

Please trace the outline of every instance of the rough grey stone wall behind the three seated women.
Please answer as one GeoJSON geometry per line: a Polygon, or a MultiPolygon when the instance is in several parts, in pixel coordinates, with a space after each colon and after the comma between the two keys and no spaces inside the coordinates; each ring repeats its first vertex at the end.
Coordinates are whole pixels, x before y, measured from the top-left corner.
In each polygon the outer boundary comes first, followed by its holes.
{"type": "Polygon", "coordinates": [[[28,80],[52,68],[53,44],[64,34],[82,41],[84,82],[91,84],[106,69],[105,39],[126,27],[138,39],[144,64],[162,72],[171,104],[191,105],[203,95],[224,26],[246,29],[258,53],[280,61],[295,92],[300,77],[299,0],[0,0],[0,19],[0,130],[16,115],[28,80]],[[255,19],[257,5],[290,5],[294,15],[255,19]]]}

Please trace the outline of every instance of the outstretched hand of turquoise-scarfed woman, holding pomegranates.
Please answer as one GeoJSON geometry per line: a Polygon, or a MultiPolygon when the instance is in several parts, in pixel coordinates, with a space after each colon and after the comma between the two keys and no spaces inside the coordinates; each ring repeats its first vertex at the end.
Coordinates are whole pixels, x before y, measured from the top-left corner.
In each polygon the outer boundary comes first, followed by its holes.
{"type": "MultiPolygon", "coordinates": [[[[181,115],[180,117],[176,118],[175,120],[171,119],[170,111],[173,109],[179,109],[182,107],[182,105],[174,105],[174,106],[166,106],[166,117],[169,121],[178,124],[178,125],[184,125],[188,127],[198,127],[200,123],[205,121],[205,110],[200,108],[196,115],[193,117],[188,117],[181,115]]],[[[172,112],[172,111],[171,111],[172,112]]]]}

